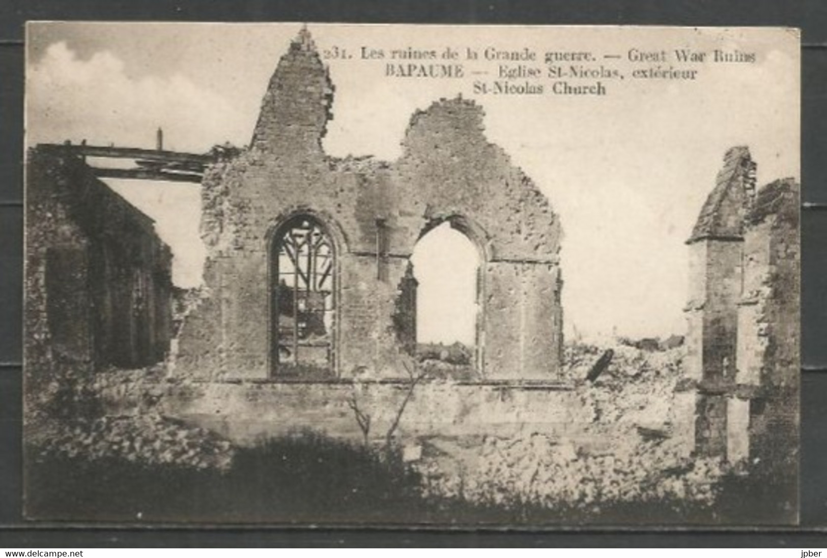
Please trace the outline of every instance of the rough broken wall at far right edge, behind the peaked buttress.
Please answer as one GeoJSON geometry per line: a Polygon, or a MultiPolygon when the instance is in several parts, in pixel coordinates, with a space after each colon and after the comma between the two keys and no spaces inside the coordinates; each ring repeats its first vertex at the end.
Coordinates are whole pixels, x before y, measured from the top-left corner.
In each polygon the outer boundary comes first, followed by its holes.
{"type": "Polygon", "coordinates": [[[750,453],[797,467],[799,422],[800,241],[798,185],[767,184],[747,218],[744,292],[739,307],[739,383],[756,385],[750,453]]]}

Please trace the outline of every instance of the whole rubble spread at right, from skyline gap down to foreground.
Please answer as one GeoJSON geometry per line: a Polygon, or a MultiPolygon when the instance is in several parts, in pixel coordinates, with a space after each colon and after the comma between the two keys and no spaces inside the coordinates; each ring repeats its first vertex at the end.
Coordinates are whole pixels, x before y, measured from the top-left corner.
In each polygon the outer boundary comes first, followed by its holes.
{"type": "Polygon", "coordinates": [[[729,466],[719,458],[691,456],[687,440],[673,436],[676,425],[694,421],[674,405],[684,349],[566,346],[564,379],[591,422],[566,436],[485,436],[475,449],[464,445],[452,455],[424,459],[418,469],[425,492],[546,508],[667,500],[712,505],[729,466]]]}

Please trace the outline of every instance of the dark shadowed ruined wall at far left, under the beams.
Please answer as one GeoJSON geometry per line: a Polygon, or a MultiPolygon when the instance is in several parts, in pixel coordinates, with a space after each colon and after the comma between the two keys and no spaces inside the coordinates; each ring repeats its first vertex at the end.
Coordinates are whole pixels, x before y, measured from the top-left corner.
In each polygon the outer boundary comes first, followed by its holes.
{"type": "Polygon", "coordinates": [[[171,255],[151,219],[59,147],[30,150],[26,178],[26,392],[164,360],[171,255]]]}

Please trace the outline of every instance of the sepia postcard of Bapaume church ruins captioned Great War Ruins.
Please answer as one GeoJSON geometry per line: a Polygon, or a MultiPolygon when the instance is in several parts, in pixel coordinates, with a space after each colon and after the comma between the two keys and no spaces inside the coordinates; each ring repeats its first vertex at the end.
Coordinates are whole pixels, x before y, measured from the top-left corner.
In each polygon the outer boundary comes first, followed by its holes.
{"type": "Polygon", "coordinates": [[[27,517],[798,521],[795,29],[26,42],[27,517]]]}

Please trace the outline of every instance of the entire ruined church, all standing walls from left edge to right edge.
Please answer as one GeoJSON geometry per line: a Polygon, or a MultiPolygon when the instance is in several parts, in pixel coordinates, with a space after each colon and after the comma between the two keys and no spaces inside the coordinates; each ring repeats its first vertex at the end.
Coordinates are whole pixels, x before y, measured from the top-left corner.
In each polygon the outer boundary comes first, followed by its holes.
{"type": "MultiPolygon", "coordinates": [[[[376,434],[407,405],[399,432],[414,438],[542,432],[612,443],[578,393],[600,386],[562,374],[559,218],[486,140],[481,107],[454,98],[415,112],[397,160],[337,159],[323,150],[333,93],[303,30],[270,79],[248,148],[118,152],[141,159],[137,178],[200,184],[204,286],[177,327],[169,247],[101,180],[125,171],[85,159],[113,151],[30,150],[28,408],[69,371],[103,378],[164,363],[145,392],[104,390],[102,412],[141,413],[151,400],[155,413],[239,443],[308,427],[358,439],[359,398],[376,434]],[[480,256],[473,374],[429,378],[412,397],[411,255],[444,223],[480,256]]],[[[798,185],[757,188],[755,168],[744,147],[725,155],[687,241],[686,378],[667,411],[636,426],[668,431],[687,455],[772,463],[797,447],[798,185]]]]}

